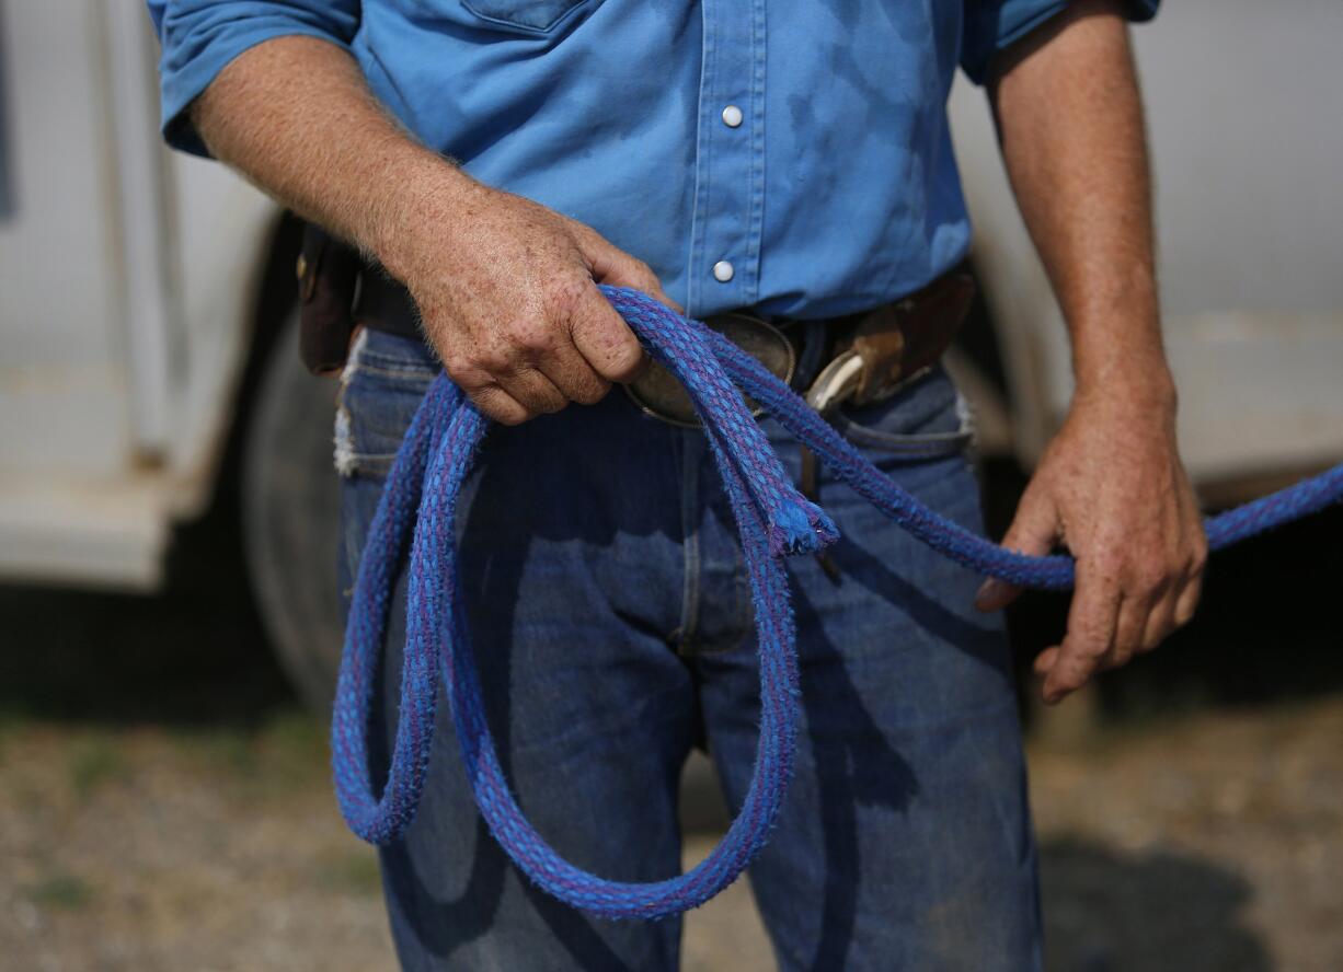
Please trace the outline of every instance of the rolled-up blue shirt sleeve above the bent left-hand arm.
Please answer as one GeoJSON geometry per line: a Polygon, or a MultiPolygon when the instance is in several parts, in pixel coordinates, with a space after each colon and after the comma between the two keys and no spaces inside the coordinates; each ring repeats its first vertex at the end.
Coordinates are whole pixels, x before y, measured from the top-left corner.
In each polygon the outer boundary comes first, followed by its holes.
{"type": "Polygon", "coordinates": [[[208,154],[187,107],[239,54],[286,35],[348,47],[359,30],[359,0],[148,0],[158,60],[163,133],[171,145],[208,154]]]}

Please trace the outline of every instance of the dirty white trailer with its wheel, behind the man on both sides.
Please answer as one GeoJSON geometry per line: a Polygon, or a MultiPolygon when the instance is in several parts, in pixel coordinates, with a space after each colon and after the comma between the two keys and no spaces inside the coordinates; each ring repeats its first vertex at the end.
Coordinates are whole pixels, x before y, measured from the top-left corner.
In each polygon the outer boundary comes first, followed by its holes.
{"type": "MultiPolygon", "coordinates": [[[[1343,4],[1185,0],[1135,38],[1180,440],[1205,497],[1244,499],[1343,456],[1343,4]]],[[[156,56],[130,0],[0,5],[0,577],[154,589],[243,435],[263,615],[329,698],[333,384],[297,364],[278,209],[163,146],[156,56]]],[[[952,109],[992,338],[954,368],[982,447],[1029,467],[1066,342],[982,93],[952,109]]]]}

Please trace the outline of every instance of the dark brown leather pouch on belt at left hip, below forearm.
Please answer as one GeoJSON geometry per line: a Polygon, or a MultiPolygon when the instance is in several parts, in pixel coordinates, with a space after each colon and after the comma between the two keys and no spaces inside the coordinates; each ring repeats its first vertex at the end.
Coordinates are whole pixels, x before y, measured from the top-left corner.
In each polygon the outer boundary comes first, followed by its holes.
{"type": "Polygon", "coordinates": [[[313,375],[345,367],[355,332],[359,251],[308,223],[298,258],[298,354],[313,375]]]}

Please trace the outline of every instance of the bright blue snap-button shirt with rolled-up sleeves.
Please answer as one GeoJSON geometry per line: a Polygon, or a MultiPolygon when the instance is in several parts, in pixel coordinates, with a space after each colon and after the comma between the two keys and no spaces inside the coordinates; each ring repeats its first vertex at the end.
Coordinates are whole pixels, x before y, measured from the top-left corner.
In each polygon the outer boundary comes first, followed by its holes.
{"type": "MultiPolygon", "coordinates": [[[[1146,19],[1158,0],[1131,0],[1146,19]]],[[[827,317],[970,243],[945,101],[1066,0],[149,0],[164,130],[279,35],[346,47],[477,179],[588,223],[696,315],[827,317]]]]}

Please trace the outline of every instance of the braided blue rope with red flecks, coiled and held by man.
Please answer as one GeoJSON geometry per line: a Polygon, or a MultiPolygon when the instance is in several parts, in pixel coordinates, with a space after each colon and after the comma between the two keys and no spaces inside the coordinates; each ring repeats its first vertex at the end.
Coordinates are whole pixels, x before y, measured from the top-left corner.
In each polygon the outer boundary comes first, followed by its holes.
{"type": "MultiPolygon", "coordinates": [[[[369,525],[345,631],[332,718],[332,765],[341,814],[372,843],[410,826],[428,769],[438,691],[453,716],[462,763],[490,832],[514,863],[561,901],[607,918],[659,918],[704,904],[764,846],[792,772],[798,658],[786,554],[838,538],[834,522],[794,489],[739,385],[843,482],[923,542],[971,569],[1022,587],[1066,589],[1073,561],[1005,550],[901,490],[782,381],[721,336],[643,294],[603,287],[649,354],[685,385],[704,424],[732,506],[755,605],[760,659],[760,740],[741,811],[705,861],[650,883],[604,881],[568,863],[522,815],[494,749],[462,603],[457,501],[488,423],[441,375],[415,414],[369,525]],[[400,721],[381,795],[368,771],[368,721],[392,591],[410,552],[400,721]]],[[[1207,521],[1214,549],[1343,498],[1343,466],[1207,521]]]]}

